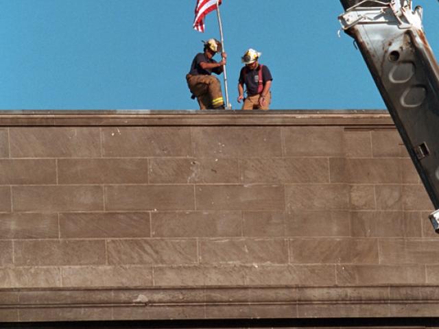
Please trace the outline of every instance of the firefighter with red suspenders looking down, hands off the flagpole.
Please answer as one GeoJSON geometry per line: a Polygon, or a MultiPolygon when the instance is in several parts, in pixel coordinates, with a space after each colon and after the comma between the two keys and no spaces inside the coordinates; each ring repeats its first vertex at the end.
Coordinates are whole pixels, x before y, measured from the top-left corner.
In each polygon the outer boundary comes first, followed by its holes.
{"type": "Polygon", "coordinates": [[[267,66],[259,64],[261,53],[248,49],[241,60],[246,66],[241,69],[238,82],[238,103],[244,99],[242,110],[269,110],[272,100],[270,88],[272,75],[267,66]],[[244,98],[244,84],[247,98],[244,98]]]}

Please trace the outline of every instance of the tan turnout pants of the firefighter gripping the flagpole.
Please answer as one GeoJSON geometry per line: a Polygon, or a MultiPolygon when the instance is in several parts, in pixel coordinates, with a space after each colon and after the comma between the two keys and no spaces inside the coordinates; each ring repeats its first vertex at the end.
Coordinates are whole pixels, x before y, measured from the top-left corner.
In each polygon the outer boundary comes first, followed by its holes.
{"type": "Polygon", "coordinates": [[[187,86],[198,99],[200,110],[224,106],[221,83],[212,75],[186,75],[187,86]]]}

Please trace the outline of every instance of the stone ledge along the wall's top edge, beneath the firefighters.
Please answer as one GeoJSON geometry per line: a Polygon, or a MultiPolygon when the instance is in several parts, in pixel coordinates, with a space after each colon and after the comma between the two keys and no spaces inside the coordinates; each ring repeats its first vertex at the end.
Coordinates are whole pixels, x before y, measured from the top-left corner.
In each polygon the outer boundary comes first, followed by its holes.
{"type": "Polygon", "coordinates": [[[394,127],[383,110],[0,111],[0,127],[28,126],[368,125],[394,127]]]}

